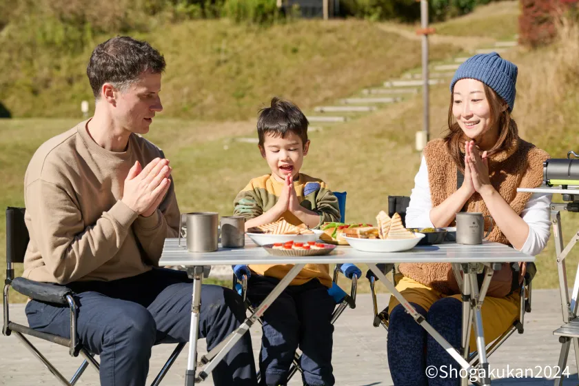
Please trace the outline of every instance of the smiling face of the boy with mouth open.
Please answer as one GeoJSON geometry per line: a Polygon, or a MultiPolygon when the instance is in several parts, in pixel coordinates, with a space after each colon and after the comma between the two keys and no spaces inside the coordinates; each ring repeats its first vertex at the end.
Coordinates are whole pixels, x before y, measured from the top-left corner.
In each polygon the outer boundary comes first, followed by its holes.
{"type": "Polygon", "coordinates": [[[261,156],[270,165],[272,175],[277,181],[285,181],[285,176],[297,176],[303,163],[303,156],[307,155],[309,141],[302,143],[301,138],[294,132],[287,132],[285,138],[272,136],[266,133],[263,139],[263,148],[260,146],[261,156]]]}

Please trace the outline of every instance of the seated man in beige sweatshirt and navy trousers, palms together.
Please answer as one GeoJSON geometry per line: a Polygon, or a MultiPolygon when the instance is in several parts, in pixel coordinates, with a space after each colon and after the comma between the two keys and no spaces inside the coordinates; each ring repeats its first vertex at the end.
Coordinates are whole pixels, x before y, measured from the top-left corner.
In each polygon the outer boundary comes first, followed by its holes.
{"type": "MultiPolygon", "coordinates": [[[[192,285],[158,266],[179,232],[171,167],[137,134],[163,109],[165,59],[144,41],[96,46],[87,74],[94,116],[45,142],[25,177],[30,243],[23,276],[76,292],[79,339],[101,357],[101,385],[145,385],[151,347],[186,342],[192,285]]],[[[199,336],[211,349],[245,318],[241,298],[206,285],[199,336]]],[[[30,301],[30,327],[69,337],[68,308],[30,301]]],[[[250,335],[213,372],[215,385],[256,385],[250,335]]]]}

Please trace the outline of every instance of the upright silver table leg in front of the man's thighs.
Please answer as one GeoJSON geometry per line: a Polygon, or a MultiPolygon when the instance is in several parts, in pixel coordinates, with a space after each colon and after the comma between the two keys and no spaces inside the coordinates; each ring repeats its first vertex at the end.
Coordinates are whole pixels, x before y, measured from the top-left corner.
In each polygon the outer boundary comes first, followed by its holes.
{"type": "Polygon", "coordinates": [[[203,267],[187,268],[187,274],[193,278],[193,298],[191,305],[191,325],[189,329],[189,357],[185,371],[185,386],[195,385],[197,370],[197,334],[199,332],[199,309],[201,308],[201,283],[203,267]]]}

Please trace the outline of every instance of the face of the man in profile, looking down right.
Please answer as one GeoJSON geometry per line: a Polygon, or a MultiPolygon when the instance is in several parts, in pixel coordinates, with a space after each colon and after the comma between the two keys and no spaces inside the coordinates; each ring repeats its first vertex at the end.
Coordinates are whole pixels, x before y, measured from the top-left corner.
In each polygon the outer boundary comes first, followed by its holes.
{"type": "Polygon", "coordinates": [[[155,112],[161,112],[161,74],[144,72],[127,90],[114,91],[112,113],[118,125],[136,134],[149,132],[155,112]]]}

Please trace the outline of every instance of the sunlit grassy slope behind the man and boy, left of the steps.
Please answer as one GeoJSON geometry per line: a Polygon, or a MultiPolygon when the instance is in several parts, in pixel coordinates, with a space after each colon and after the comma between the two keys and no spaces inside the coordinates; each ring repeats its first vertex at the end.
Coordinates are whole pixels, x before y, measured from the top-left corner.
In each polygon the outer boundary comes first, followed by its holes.
{"type": "MultiPolygon", "coordinates": [[[[8,44],[3,36],[8,35],[0,32],[0,44],[8,44]]],[[[164,115],[187,119],[251,118],[276,94],[309,108],[420,65],[420,44],[360,20],[294,21],[271,28],[187,21],[134,36],[150,41],[167,59],[164,115]]],[[[80,102],[92,99],[88,57],[105,39],[95,38],[72,57],[41,49],[21,50],[22,58],[19,50],[0,52],[0,103],[12,116],[79,116],[80,102]]],[[[431,57],[456,52],[448,44],[433,45],[431,57]]]]}

